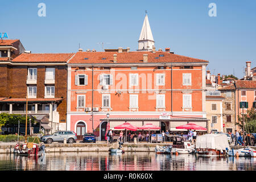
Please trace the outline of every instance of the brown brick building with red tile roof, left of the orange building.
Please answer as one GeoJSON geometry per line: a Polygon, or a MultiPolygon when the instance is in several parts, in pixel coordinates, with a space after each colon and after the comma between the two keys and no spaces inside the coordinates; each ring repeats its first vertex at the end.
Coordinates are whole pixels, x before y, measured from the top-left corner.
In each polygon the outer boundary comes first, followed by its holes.
{"type": "MultiPolygon", "coordinates": [[[[18,49],[18,48],[17,48],[18,49]]],[[[0,112],[28,114],[47,132],[65,130],[67,61],[73,53],[21,53],[0,61],[0,112]]]]}

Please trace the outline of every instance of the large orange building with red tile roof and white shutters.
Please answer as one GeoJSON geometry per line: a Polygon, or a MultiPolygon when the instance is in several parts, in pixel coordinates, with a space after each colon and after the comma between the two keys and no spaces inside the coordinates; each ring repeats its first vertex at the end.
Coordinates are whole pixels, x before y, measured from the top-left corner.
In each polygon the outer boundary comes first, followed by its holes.
{"type": "Polygon", "coordinates": [[[188,122],[207,127],[205,67],[208,61],[163,51],[76,53],[68,61],[67,130],[95,132],[106,123],[154,123],[176,131],[188,122]],[[106,114],[109,113],[109,119],[106,114]]]}

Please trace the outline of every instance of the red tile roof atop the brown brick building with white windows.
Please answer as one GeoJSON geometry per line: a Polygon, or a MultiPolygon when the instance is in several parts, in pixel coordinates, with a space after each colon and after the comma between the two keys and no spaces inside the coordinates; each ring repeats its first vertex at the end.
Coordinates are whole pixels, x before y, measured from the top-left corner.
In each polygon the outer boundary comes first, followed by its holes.
{"type": "Polygon", "coordinates": [[[22,53],[13,63],[67,63],[75,53],[22,53]]]}

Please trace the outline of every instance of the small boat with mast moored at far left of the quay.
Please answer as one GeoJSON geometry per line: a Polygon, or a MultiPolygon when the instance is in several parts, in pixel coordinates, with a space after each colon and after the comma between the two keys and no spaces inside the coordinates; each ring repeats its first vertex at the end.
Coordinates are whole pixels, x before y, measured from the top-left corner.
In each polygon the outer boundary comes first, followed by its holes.
{"type": "Polygon", "coordinates": [[[28,142],[28,143],[17,143],[14,147],[14,154],[16,155],[43,155],[45,153],[44,144],[39,146],[37,143],[28,142]]]}

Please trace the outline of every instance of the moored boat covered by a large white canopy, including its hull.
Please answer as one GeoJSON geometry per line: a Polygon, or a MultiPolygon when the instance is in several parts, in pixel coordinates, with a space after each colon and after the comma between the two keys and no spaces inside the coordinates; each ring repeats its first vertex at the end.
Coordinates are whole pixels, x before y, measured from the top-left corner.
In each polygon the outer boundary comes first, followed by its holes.
{"type": "Polygon", "coordinates": [[[196,138],[195,154],[198,156],[221,156],[230,150],[228,137],[222,134],[205,134],[196,138]]]}

